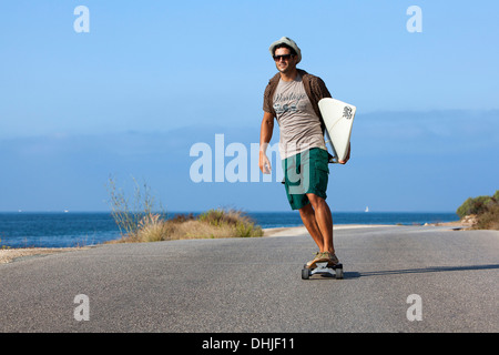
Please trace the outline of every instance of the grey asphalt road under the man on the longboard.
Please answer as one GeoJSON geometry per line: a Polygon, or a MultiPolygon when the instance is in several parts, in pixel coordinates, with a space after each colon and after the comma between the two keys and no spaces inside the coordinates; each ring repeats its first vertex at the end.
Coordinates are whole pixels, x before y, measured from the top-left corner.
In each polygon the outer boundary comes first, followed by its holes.
{"type": "Polygon", "coordinates": [[[499,332],[499,232],[342,229],[335,245],[344,280],[302,280],[308,235],[16,261],[0,265],[0,332],[499,332]]]}

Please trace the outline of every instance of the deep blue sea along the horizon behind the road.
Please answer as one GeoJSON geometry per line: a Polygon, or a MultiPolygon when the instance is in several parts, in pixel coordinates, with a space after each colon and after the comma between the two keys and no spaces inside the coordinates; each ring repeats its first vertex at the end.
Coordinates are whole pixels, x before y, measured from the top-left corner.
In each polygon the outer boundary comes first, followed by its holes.
{"type": "MultiPolygon", "coordinates": [[[[173,212],[165,217],[179,214],[189,213],[173,212]]],[[[245,214],[263,229],[303,225],[298,212],[245,214]]],[[[454,212],[333,212],[333,220],[335,224],[421,225],[459,221],[459,216],[454,212]]],[[[120,237],[120,229],[110,212],[0,213],[0,248],[90,246],[120,237]]]]}

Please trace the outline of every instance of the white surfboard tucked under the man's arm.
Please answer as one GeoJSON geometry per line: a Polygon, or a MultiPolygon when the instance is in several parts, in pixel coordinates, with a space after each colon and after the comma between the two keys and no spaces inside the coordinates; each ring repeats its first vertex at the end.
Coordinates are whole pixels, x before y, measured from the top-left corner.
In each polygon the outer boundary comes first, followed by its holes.
{"type": "Polygon", "coordinates": [[[357,108],[332,98],[322,99],[318,106],[326,124],[326,143],[329,143],[333,150],[333,162],[344,161],[348,154],[357,108]]]}

